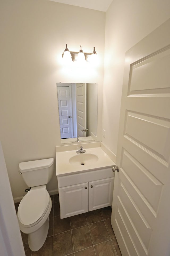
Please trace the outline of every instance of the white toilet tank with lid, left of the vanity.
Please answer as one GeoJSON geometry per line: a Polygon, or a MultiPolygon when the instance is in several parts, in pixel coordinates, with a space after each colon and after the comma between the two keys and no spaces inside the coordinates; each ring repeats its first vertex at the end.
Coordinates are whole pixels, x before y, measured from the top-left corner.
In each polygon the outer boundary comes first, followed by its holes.
{"type": "Polygon", "coordinates": [[[19,163],[19,170],[27,186],[46,185],[53,175],[54,158],[19,163]]]}

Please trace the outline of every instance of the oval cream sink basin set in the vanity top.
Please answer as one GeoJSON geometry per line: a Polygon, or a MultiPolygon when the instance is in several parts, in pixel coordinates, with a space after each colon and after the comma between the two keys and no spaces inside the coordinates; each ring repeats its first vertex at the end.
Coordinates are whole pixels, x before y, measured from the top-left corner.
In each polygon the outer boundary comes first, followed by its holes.
{"type": "Polygon", "coordinates": [[[73,165],[86,165],[90,163],[95,163],[99,160],[97,155],[94,154],[88,154],[88,153],[80,153],[75,155],[74,157],[71,157],[69,159],[69,163],[73,165]]]}

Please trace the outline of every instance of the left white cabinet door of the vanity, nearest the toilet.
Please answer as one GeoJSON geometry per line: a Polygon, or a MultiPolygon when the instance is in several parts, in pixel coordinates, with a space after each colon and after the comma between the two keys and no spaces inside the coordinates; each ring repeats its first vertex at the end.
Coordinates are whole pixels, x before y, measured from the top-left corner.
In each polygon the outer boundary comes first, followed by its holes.
{"type": "Polygon", "coordinates": [[[88,211],[88,182],[59,188],[58,192],[61,219],[88,211]]]}

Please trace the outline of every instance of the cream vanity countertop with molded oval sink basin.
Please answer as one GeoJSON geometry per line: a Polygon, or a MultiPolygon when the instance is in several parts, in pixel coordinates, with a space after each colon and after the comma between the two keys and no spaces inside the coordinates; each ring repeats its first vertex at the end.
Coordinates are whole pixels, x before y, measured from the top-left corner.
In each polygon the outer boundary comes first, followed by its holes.
{"type": "Polygon", "coordinates": [[[85,153],[77,154],[77,150],[56,152],[56,176],[92,171],[112,167],[115,163],[101,147],[84,148],[85,153]],[[81,165],[81,164],[84,165],[81,165]]]}

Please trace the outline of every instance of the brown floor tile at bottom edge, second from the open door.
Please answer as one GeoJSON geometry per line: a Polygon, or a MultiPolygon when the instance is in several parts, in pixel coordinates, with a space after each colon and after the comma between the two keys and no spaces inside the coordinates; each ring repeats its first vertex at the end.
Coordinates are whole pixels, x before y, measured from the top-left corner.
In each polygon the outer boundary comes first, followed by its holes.
{"type": "Polygon", "coordinates": [[[95,245],[94,248],[96,256],[117,256],[111,240],[95,245]]]}

